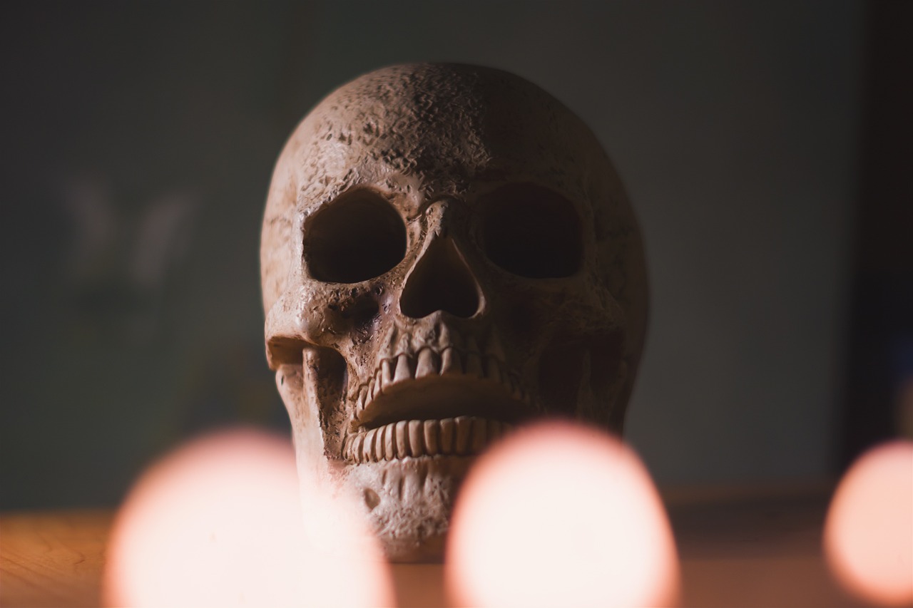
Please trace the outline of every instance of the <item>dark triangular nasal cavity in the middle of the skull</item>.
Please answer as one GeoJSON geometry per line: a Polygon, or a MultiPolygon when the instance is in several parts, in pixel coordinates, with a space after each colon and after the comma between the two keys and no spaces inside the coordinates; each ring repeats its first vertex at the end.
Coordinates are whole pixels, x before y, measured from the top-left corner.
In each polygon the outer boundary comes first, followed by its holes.
{"type": "Polygon", "coordinates": [[[478,310],[478,284],[449,238],[437,238],[406,278],[400,310],[422,319],[443,310],[468,319],[478,310]]]}

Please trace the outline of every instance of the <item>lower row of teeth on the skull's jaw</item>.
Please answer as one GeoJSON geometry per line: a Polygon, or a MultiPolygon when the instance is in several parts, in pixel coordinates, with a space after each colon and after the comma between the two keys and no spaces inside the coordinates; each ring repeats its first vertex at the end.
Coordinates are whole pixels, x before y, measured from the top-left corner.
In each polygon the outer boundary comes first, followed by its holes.
{"type": "Polygon", "coordinates": [[[350,462],[382,462],[406,456],[479,454],[513,425],[477,416],[443,420],[402,420],[348,435],[342,457],[350,462]]]}

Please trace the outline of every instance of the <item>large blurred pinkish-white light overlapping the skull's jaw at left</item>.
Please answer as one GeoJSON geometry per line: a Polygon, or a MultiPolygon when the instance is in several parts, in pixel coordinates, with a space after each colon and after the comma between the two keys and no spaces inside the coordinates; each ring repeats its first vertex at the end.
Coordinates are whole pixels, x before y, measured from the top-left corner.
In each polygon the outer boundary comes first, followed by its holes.
{"type": "Polygon", "coordinates": [[[112,606],[392,604],[380,550],[359,520],[309,491],[305,517],[326,521],[333,554],[305,538],[288,440],[210,435],[147,471],[118,513],[104,574],[112,606]]]}

